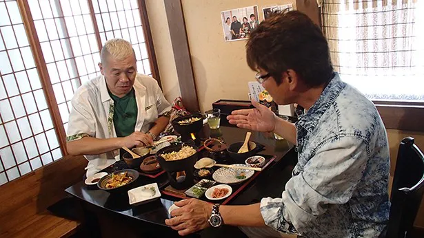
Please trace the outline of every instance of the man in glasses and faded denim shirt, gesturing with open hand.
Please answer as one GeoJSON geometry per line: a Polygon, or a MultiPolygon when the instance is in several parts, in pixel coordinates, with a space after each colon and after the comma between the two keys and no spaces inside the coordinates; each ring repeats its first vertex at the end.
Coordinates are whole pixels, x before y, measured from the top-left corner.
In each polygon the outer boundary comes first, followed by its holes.
{"type": "MultiPolygon", "coordinates": [[[[389,217],[389,147],[374,104],[333,72],[317,25],[301,12],[272,14],[246,45],[248,65],[279,105],[306,112],[296,124],[253,102],[230,123],[274,132],[296,144],[299,162],[281,197],[248,206],[198,199],[177,202],[166,224],[180,235],[208,226],[239,226],[249,237],[378,237],[389,217]]],[[[278,184],[275,184],[278,186],[278,184]]]]}

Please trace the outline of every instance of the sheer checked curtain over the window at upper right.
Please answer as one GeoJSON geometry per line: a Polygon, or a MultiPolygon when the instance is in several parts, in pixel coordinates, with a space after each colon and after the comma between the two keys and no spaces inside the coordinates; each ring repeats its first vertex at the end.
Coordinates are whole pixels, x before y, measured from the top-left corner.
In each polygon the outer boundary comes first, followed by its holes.
{"type": "Polygon", "coordinates": [[[423,0],[324,0],[334,69],[372,99],[424,101],[423,0]]]}

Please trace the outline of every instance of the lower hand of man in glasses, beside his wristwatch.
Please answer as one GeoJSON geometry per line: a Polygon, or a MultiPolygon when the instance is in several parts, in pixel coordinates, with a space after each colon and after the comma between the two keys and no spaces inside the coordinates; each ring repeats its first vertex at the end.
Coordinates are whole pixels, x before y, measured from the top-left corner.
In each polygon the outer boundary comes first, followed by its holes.
{"type": "Polygon", "coordinates": [[[166,219],[165,224],[178,230],[179,235],[189,235],[210,226],[208,219],[212,204],[192,198],[176,202],[175,205],[179,208],[172,210],[172,218],[166,219]]]}

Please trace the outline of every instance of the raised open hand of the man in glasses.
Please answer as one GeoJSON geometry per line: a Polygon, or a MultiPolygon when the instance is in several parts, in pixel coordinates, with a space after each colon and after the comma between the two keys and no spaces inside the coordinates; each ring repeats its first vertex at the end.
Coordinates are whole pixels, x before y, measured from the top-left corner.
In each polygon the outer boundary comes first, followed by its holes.
{"type": "Polygon", "coordinates": [[[256,108],[232,111],[227,117],[230,124],[252,131],[274,131],[276,123],[274,112],[255,100],[252,100],[252,105],[256,108]]]}

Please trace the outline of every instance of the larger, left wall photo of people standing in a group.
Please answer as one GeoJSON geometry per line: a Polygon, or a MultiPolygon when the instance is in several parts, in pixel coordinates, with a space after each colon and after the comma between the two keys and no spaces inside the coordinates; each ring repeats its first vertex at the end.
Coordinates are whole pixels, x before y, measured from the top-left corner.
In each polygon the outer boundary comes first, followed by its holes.
{"type": "Polygon", "coordinates": [[[258,6],[237,8],[221,12],[224,41],[248,39],[259,24],[258,6]]]}

